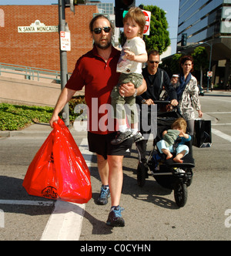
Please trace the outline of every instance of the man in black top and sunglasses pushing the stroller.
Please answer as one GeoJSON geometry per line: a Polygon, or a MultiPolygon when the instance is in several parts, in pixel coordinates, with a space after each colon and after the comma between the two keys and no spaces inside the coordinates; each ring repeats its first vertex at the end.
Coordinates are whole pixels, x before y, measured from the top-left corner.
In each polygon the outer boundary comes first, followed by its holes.
{"type": "MultiPolygon", "coordinates": [[[[145,69],[142,69],[142,75],[146,79],[147,90],[141,96],[136,97],[136,103],[139,104],[140,108],[142,104],[152,105],[155,100],[159,100],[162,95],[162,91],[165,88],[169,95],[172,106],[177,106],[177,95],[176,91],[172,86],[169,76],[166,71],[159,69],[159,52],[152,50],[148,53],[148,62],[145,69]]],[[[149,116],[150,118],[150,116],[149,116]]],[[[142,132],[142,127],[141,127],[142,132]]],[[[146,163],[146,147],[148,140],[142,140],[136,143],[139,151],[139,161],[146,163]]]]}

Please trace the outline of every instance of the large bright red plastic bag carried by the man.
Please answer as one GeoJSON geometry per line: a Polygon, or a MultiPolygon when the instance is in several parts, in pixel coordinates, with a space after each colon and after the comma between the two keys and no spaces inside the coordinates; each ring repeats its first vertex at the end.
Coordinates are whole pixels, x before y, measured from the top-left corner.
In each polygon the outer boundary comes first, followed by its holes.
{"type": "Polygon", "coordinates": [[[36,153],[22,186],[33,196],[78,204],[92,198],[89,168],[61,119],[36,153]]]}

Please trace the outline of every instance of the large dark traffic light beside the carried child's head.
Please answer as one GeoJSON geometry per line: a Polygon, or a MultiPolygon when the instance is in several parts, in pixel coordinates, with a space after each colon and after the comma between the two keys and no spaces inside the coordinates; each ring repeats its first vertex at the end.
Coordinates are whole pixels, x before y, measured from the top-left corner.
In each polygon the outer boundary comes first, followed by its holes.
{"type": "Polygon", "coordinates": [[[115,0],[115,26],[123,27],[123,12],[129,11],[129,8],[136,6],[135,0],[115,0]]]}

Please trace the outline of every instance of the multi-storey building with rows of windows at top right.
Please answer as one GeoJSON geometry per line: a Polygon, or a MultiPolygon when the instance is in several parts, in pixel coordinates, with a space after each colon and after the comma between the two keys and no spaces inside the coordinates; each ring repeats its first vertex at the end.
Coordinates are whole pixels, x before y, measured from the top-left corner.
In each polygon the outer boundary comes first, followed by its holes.
{"type": "Polygon", "coordinates": [[[187,34],[185,49],[206,47],[212,56],[213,83],[228,83],[231,58],[231,0],[179,0],[178,38],[187,34]]]}

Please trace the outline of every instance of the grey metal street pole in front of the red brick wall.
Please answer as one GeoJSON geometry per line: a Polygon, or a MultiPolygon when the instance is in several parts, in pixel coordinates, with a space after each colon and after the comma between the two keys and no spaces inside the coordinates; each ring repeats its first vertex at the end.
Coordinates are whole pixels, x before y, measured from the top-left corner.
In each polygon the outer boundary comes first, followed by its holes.
{"type": "MultiPolygon", "coordinates": [[[[65,0],[59,0],[59,36],[60,31],[65,31],[65,0]]],[[[59,47],[60,51],[60,72],[61,72],[61,89],[65,88],[68,81],[68,68],[67,68],[67,52],[61,50],[61,45],[59,47]]],[[[62,120],[66,126],[69,126],[69,103],[65,105],[62,109],[62,120]]]]}

